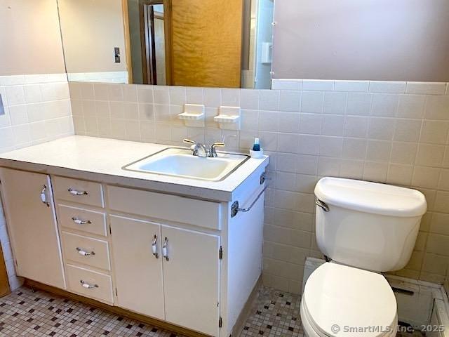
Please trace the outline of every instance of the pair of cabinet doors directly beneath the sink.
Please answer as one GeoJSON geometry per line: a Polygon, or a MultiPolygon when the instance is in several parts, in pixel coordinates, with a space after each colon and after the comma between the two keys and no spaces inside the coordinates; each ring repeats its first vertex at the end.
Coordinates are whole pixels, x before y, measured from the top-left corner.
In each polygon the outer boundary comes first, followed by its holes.
{"type": "Polygon", "coordinates": [[[112,215],[117,305],[217,336],[220,237],[112,215]]]}

